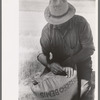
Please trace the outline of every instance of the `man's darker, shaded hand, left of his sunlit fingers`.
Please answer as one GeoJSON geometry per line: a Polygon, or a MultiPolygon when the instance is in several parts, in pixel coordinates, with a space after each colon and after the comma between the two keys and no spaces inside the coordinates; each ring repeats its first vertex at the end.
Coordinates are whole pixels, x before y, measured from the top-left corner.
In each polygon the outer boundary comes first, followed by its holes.
{"type": "Polygon", "coordinates": [[[48,64],[48,68],[50,68],[51,72],[53,72],[56,75],[60,75],[64,72],[63,68],[57,63],[48,64]]]}

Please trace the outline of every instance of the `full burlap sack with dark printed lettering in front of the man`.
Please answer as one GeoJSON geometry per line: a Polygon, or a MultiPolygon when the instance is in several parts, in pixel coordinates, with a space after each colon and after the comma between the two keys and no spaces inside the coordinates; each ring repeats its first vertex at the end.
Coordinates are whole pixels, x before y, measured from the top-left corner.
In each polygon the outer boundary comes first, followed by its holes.
{"type": "Polygon", "coordinates": [[[78,93],[77,71],[74,76],[48,74],[37,78],[38,84],[33,85],[31,90],[36,100],[76,100],[78,93]]]}

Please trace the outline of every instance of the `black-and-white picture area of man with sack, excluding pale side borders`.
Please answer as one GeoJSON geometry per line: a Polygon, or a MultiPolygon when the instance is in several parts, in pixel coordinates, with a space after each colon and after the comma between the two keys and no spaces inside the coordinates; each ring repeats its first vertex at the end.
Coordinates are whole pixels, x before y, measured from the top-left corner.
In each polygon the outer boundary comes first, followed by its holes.
{"type": "Polygon", "coordinates": [[[97,100],[97,0],[19,0],[18,100],[97,100]]]}

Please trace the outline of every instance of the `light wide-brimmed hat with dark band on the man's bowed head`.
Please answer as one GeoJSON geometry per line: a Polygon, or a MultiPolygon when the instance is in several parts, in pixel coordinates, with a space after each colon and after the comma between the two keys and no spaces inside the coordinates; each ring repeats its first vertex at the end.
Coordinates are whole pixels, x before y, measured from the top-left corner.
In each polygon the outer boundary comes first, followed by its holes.
{"type": "Polygon", "coordinates": [[[67,0],[50,0],[44,16],[48,23],[58,25],[71,19],[75,12],[76,9],[67,0]]]}

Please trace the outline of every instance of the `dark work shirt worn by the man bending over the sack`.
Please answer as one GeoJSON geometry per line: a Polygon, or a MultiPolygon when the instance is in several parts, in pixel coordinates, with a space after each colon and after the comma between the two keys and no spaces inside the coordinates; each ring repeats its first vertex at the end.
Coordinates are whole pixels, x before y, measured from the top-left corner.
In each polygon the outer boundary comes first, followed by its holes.
{"type": "Polygon", "coordinates": [[[79,59],[89,56],[86,51],[77,56],[82,49],[90,48],[90,52],[94,51],[90,25],[79,15],[74,15],[61,27],[48,23],[42,30],[40,44],[43,53],[49,57],[51,52],[53,61],[58,63],[62,63],[69,57],[79,63],[79,59]]]}

